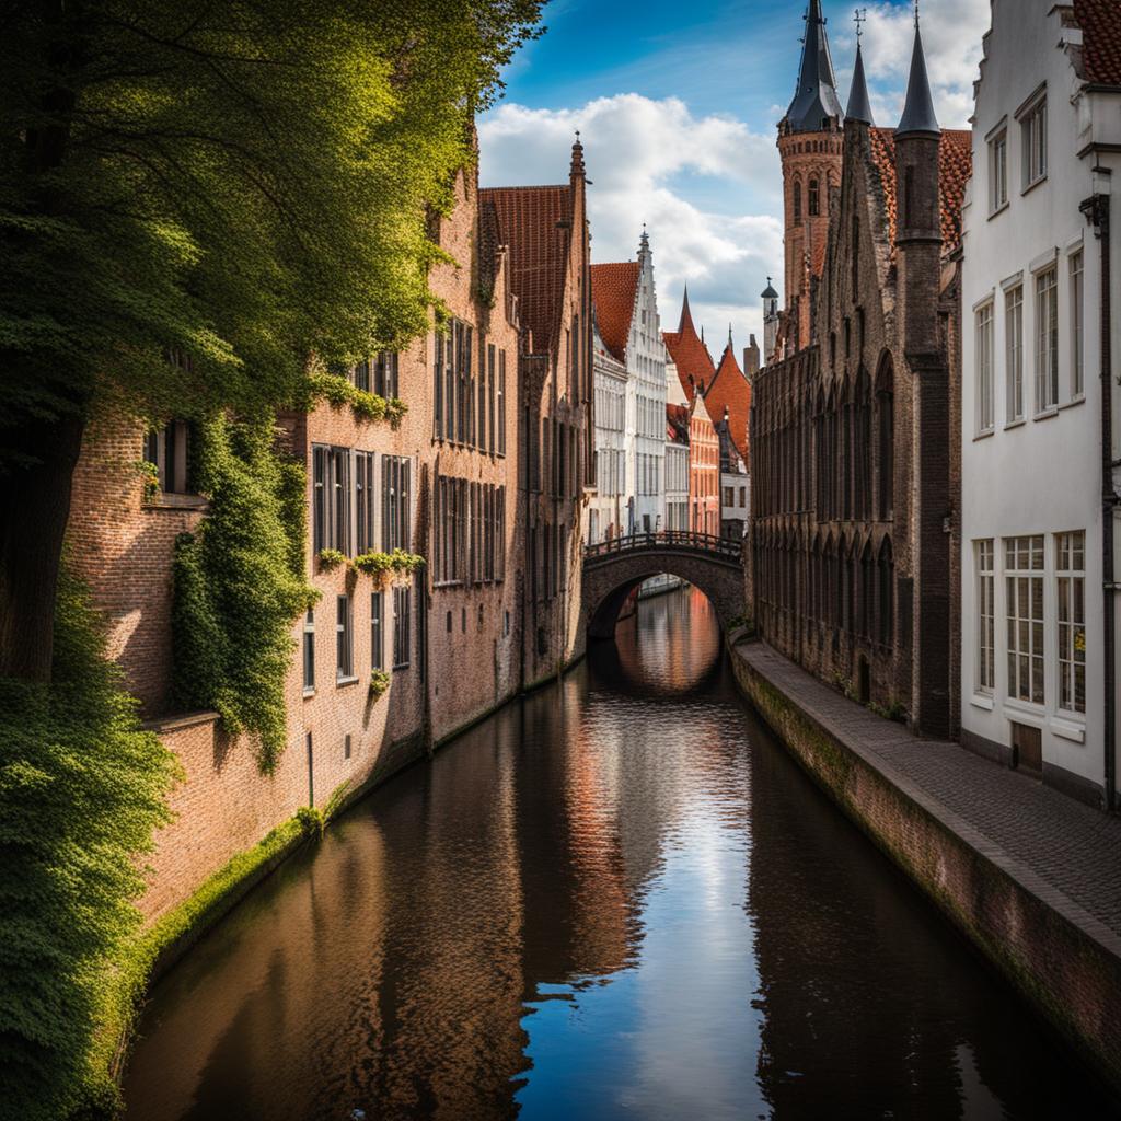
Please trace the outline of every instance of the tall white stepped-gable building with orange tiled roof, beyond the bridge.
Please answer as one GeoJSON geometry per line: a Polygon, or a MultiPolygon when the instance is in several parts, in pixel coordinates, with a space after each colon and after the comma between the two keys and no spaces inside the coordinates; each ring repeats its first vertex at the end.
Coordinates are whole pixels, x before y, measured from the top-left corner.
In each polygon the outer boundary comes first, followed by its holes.
{"type": "Polygon", "coordinates": [[[605,354],[627,373],[620,531],[654,532],[665,521],[666,349],[645,230],[637,261],[592,266],[592,298],[605,354]]]}

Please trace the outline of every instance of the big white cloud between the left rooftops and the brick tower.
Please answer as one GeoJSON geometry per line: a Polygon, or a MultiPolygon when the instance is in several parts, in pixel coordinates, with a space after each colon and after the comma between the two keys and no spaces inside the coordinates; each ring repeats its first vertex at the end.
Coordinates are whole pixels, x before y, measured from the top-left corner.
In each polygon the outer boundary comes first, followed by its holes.
{"type": "Polygon", "coordinates": [[[687,282],[710,349],[723,346],[730,318],[738,350],[749,332],[759,335],[758,293],[782,265],[773,137],[732,117],[694,117],[676,98],[627,93],[559,110],[503,104],[479,126],[482,183],[563,182],[576,129],[592,180],[592,259],[633,259],[646,222],[663,327],[676,328],[687,282]]]}

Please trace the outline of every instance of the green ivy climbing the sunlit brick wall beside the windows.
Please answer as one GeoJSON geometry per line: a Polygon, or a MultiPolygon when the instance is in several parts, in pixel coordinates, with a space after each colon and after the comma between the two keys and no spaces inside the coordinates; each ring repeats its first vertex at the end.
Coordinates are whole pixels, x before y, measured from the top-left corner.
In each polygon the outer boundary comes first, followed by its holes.
{"type": "Polygon", "coordinates": [[[210,512],[176,543],[175,703],[215,710],[228,732],[254,733],[271,771],[285,745],[291,623],[313,594],[303,577],[304,472],[277,455],[267,420],[220,415],[198,435],[210,512]]]}

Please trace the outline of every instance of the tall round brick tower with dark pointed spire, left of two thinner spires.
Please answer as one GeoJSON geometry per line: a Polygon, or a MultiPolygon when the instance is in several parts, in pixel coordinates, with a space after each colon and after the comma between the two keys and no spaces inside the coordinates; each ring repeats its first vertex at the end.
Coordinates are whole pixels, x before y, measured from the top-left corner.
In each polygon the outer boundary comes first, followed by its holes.
{"type": "Polygon", "coordinates": [[[841,183],[844,112],[821,0],[809,0],[798,87],[778,126],[786,234],[786,337],[809,344],[809,282],[825,266],[830,188],[841,183]]]}

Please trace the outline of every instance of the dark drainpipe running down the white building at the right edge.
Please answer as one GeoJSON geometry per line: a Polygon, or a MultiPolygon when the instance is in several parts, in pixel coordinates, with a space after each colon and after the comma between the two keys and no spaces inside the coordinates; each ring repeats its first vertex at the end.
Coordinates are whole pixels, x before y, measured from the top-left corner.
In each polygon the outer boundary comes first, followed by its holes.
{"type": "Polygon", "coordinates": [[[1094,193],[1080,210],[1094,228],[1101,247],[1101,383],[1102,383],[1102,586],[1105,595],[1105,634],[1102,663],[1105,677],[1105,808],[1117,805],[1117,582],[1113,556],[1113,512],[1118,497],[1113,490],[1113,354],[1110,334],[1110,169],[1093,168],[1094,193]]]}

